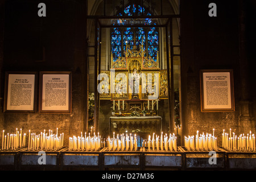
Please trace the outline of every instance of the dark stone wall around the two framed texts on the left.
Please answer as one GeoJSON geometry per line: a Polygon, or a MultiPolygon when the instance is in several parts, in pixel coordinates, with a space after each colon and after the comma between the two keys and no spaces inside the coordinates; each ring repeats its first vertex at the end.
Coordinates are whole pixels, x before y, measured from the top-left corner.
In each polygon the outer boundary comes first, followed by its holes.
{"type": "MultiPolygon", "coordinates": [[[[5,42],[1,41],[1,98],[6,71],[72,71],[72,114],[3,113],[0,127],[7,133],[59,128],[65,141],[84,130],[85,111],[85,22],[82,1],[45,1],[46,17],[38,16],[39,1],[5,2],[5,42]],[[2,52],[2,47],[4,51],[2,52]],[[45,59],[43,59],[43,48],[45,59]]],[[[3,6],[1,5],[1,10],[3,6]]],[[[1,11],[1,14],[3,11],[1,11]]],[[[3,24],[1,16],[1,24],[3,24]]],[[[2,31],[1,26],[1,31],[2,31]]],[[[3,35],[3,34],[1,34],[3,35]]],[[[3,37],[1,36],[1,40],[3,37]]],[[[39,79],[37,80],[39,81],[39,79]]],[[[38,84],[39,85],[39,84],[38,84]]],[[[36,88],[39,96],[39,89],[36,88]]],[[[1,107],[3,100],[1,100],[1,107]]],[[[65,144],[67,146],[67,143],[65,144]]]]}

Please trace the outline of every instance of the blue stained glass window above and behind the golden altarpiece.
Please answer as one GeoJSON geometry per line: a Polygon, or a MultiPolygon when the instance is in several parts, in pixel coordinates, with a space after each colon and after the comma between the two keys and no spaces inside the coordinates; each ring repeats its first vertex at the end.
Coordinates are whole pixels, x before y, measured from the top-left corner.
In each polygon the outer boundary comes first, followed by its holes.
{"type": "MultiPolygon", "coordinates": [[[[125,7],[122,12],[119,12],[118,16],[132,16],[132,15],[148,15],[151,14],[146,12],[144,7],[140,5],[129,5],[125,7]]],[[[118,19],[117,24],[119,26],[126,23],[126,19],[118,19]]],[[[114,25],[115,23],[113,23],[114,25]]],[[[154,24],[152,23],[151,18],[145,18],[143,24],[154,24]]],[[[143,44],[144,56],[150,56],[154,61],[157,60],[158,51],[159,51],[159,34],[158,30],[155,27],[152,28],[142,28],[142,27],[127,27],[127,28],[113,28],[111,34],[111,46],[113,53],[113,60],[117,60],[123,52],[126,52],[126,45],[130,46],[130,49],[133,49],[136,46],[139,49],[139,46],[143,44]],[[142,43],[143,40],[143,43],[142,43]]]]}

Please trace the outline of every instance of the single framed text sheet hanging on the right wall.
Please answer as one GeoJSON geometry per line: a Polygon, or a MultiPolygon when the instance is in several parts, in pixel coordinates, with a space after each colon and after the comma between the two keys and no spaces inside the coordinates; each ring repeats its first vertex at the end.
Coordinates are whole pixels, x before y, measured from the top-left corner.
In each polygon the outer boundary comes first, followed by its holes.
{"type": "Polygon", "coordinates": [[[232,69],[203,69],[200,71],[201,111],[234,111],[232,69]]]}

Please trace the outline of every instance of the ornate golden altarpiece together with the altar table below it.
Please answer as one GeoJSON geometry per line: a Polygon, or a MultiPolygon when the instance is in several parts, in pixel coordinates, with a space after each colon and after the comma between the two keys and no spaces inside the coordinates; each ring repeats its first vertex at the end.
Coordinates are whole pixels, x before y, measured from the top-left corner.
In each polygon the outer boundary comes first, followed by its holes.
{"type": "Polygon", "coordinates": [[[110,132],[160,132],[162,117],[158,115],[158,105],[168,99],[167,69],[159,68],[159,56],[156,60],[146,57],[143,45],[139,49],[127,46],[123,55],[117,60],[111,57],[110,71],[101,71],[109,78],[108,88],[100,88],[100,99],[112,103],[110,132]]]}

